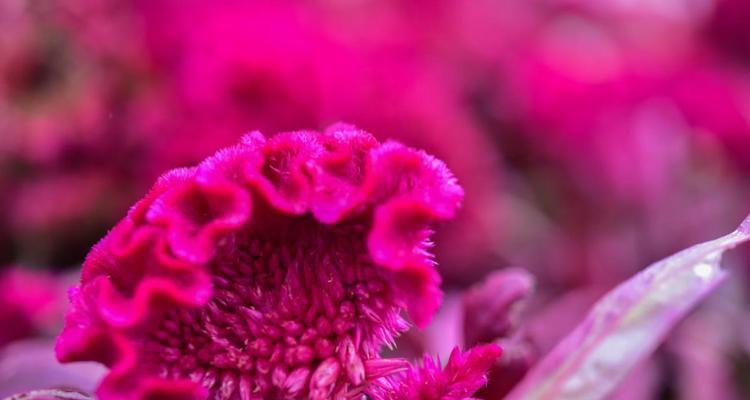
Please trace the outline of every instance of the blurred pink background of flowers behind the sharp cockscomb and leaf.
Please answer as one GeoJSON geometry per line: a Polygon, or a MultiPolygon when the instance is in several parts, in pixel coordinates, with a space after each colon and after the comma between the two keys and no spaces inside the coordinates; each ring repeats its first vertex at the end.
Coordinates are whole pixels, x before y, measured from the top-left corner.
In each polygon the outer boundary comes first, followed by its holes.
{"type": "MultiPolygon", "coordinates": [[[[533,280],[490,338],[500,399],[603,292],[750,212],[749,22],[746,0],[0,0],[0,346],[54,335],[165,170],[345,121],[466,189],[436,237],[455,336],[402,352],[469,342],[491,274],[533,280]]],[[[750,398],[744,253],[616,396],[750,398]]]]}

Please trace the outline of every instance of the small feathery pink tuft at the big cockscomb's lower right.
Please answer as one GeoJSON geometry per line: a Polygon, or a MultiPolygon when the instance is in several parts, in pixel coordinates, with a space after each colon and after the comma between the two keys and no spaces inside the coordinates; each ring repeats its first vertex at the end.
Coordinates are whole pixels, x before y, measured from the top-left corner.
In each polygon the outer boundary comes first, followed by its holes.
{"type": "Polygon", "coordinates": [[[425,356],[421,366],[377,381],[370,391],[375,400],[465,400],[487,383],[487,370],[500,357],[494,344],[465,353],[453,349],[441,370],[440,360],[425,356]]]}

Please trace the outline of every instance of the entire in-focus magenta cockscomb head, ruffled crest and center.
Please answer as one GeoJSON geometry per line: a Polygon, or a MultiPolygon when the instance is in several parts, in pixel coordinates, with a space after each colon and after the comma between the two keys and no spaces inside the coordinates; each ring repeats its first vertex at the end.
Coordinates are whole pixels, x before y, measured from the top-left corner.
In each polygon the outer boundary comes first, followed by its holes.
{"type": "Polygon", "coordinates": [[[445,165],[348,125],[254,132],[163,175],[88,255],[57,342],[110,368],[98,396],[351,398],[439,305],[445,165]]]}

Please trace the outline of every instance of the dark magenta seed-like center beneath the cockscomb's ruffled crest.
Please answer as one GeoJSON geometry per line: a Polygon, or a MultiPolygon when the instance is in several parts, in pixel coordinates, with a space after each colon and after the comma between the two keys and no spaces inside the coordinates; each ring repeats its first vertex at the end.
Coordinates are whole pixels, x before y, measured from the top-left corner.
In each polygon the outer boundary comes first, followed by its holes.
{"type": "Polygon", "coordinates": [[[406,328],[365,230],[282,222],[225,239],[211,263],[214,294],[169,311],[147,335],[160,375],[189,379],[211,399],[357,393],[367,362],[406,328]],[[283,231],[283,232],[282,232],[283,231]]]}

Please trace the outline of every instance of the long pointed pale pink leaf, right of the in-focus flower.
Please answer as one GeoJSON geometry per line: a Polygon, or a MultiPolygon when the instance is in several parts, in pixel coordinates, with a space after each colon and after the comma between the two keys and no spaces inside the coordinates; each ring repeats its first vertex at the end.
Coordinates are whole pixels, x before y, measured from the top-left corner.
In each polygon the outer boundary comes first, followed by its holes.
{"type": "Polygon", "coordinates": [[[724,251],[750,238],[734,232],[656,262],[596,303],[506,400],[596,400],[648,357],[670,329],[726,278],[724,251]]]}

